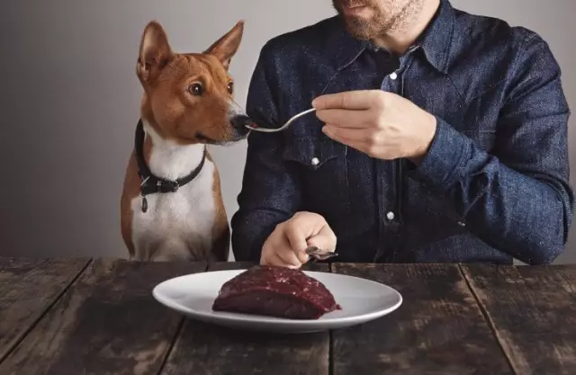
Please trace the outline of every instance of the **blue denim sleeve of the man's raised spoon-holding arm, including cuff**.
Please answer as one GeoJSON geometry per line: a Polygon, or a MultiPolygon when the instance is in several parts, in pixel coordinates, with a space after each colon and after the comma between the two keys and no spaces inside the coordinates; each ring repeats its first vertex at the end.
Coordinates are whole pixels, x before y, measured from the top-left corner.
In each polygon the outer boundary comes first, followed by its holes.
{"type": "Polygon", "coordinates": [[[437,118],[428,156],[415,169],[440,188],[468,230],[524,263],[550,263],[572,223],[567,122],[560,67],[531,34],[509,77],[496,147],[486,152],[437,118]]]}

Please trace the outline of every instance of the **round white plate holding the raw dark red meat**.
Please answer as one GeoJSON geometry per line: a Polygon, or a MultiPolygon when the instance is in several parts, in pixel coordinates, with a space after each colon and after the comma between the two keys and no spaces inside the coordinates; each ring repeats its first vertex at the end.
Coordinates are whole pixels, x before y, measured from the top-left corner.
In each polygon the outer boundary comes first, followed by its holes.
{"type": "Polygon", "coordinates": [[[222,284],[239,272],[193,273],[158,284],[152,294],[158,302],[188,317],[220,326],[276,333],[309,333],[362,324],[399,308],[401,294],[380,282],[327,272],[307,272],[332,292],[341,310],[315,320],[295,320],[212,311],[222,284]]]}

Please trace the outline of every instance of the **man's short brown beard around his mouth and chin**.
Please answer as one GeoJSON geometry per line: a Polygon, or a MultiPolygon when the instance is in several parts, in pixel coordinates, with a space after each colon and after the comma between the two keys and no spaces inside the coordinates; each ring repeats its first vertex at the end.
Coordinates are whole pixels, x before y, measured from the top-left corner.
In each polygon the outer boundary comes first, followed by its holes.
{"type": "MultiPolygon", "coordinates": [[[[363,17],[347,16],[341,8],[341,4],[343,2],[346,3],[346,1],[332,0],[332,5],[345,22],[347,31],[360,40],[374,40],[389,31],[400,28],[404,23],[408,22],[411,14],[419,11],[419,4],[421,4],[420,0],[409,0],[402,4],[399,9],[394,9],[394,6],[389,4],[389,9],[387,9],[386,13],[383,13],[381,6],[365,1],[363,4],[374,9],[373,17],[365,19],[363,17]]],[[[350,3],[354,4],[354,0],[351,0],[350,3]]]]}

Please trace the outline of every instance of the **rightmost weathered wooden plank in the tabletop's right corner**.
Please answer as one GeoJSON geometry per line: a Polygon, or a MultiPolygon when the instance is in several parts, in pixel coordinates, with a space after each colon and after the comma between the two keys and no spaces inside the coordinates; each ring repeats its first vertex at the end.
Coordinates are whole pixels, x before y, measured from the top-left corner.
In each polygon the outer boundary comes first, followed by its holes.
{"type": "Polygon", "coordinates": [[[576,267],[462,268],[518,374],[576,374],[576,267]]]}

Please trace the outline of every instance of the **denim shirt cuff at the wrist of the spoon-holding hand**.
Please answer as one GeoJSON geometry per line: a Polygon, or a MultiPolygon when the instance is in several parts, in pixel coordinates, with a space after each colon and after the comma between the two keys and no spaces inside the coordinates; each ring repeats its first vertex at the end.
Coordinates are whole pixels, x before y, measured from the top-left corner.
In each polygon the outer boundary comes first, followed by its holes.
{"type": "Polygon", "coordinates": [[[438,117],[436,119],[436,134],[432,139],[428,154],[413,172],[443,191],[447,191],[460,178],[465,156],[469,155],[472,147],[472,140],[451,127],[446,121],[438,117]]]}

